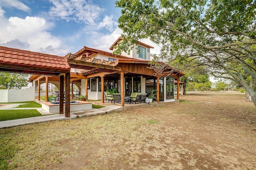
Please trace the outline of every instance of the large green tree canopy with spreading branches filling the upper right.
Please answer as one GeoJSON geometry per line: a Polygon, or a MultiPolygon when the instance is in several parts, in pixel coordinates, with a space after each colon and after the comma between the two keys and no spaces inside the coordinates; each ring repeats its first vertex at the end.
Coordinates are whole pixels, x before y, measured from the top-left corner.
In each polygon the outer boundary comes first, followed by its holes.
{"type": "Polygon", "coordinates": [[[150,37],[165,61],[203,66],[249,92],[256,106],[255,0],[119,0],[120,51],[150,37]]]}

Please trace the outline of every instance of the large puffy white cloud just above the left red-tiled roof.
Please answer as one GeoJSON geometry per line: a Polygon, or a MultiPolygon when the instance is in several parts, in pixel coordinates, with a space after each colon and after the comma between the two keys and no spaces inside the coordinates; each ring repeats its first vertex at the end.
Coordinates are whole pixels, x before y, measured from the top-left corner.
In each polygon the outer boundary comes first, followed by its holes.
{"type": "Polygon", "coordinates": [[[50,24],[46,24],[44,18],[10,17],[7,20],[4,16],[0,16],[0,20],[2,46],[62,56],[68,53],[68,48],[62,47],[62,41],[47,32],[50,24]]]}

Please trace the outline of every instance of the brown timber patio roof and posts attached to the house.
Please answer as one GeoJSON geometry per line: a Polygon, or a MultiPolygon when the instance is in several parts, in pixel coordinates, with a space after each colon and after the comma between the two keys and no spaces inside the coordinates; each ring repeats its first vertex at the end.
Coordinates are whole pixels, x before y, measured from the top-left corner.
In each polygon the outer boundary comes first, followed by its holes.
{"type": "MultiPolygon", "coordinates": [[[[106,53],[106,52],[105,52],[106,53]]],[[[142,78],[154,78],[156,79],[156,102],[160,101],[160,78],[166,76],[172,76],[177,84],[177,100],[179,100],[179,78],[183,76],[184,73],[174,70],[174,68],[166,66],[166,69],[161,72],[160,75],[156,73],[156,71],[152,68],[149,68],[149,61],[143,61],[138,59],[131,59],[124,56],[117,56],[114,61],[105,61],[104,59],[94,59],[93,57],[89,57],[89,50],[85,49],[78,51],[74,55],[69,53],[66,55],[66,59],[70,64],[71,68],[81,69],[81,74],[85,79],[85,86],[82,87],[85,89],[85,95],[90,99],[90,94],[88,94],[88,80],[90,78],[98,78],[101,82],[101,87],[99,87],[99,91],[101,91],[101,103],[105,103],[104,99],[104,91],[106,91],[105,81],[104,80],[118,80],[120,81],[120,94],[121,94],[121,106],[124,106],[125,96],[127,96],[127,92],[125,92],[125,79],[141,76],[142,78]],[[103,83],[102,83],[103,82],[103,83]]],[[[113,56],[112,53],[110,53],[113,56]]],[[[110,55],[107,54],[107,55],[110,55]]],[[[164,64],[161,62],[161,64],[164,64]]],[[[99,85],[99,86],[100,86],[99,85]]]]}

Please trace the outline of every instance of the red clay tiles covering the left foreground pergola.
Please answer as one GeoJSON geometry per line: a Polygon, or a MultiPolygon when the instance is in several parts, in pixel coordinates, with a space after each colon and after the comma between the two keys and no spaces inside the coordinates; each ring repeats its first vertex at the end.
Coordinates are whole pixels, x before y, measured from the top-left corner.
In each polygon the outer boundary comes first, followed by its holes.
{"type": "Polygon", "coordinates": [[[0,64],[11,64],[44,69],[70,70],[65,57],[48,55],[0,46],[0,64]]]}

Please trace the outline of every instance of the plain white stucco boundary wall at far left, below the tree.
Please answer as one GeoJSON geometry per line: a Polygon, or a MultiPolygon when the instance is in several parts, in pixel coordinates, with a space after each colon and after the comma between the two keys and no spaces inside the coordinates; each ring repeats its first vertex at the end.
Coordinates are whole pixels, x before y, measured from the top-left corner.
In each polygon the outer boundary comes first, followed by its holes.
{"type": "Polygon", "coordinates": [[[0,102],[28,102],[35,99],[35,86],[30,86],[25,89],[1,89],[0,102]]]}

